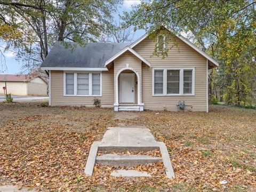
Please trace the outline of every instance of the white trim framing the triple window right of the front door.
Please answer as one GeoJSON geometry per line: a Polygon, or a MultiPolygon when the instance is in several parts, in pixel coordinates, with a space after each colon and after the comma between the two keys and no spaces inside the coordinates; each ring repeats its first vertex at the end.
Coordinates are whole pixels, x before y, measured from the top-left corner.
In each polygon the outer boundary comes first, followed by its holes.
{"type": "Polygon", "coordinates": [[[153,68],[152,69],[152,96],[194,96],[195,95],[195,67],[169,67],[169,68],[153,68]],[[155,70],[163,70],[163,94],[155,94],[155,70]],[[179,94],[167,94],[167,70],[180,70],[180,93],[179,94]],[[191,94],[183,94],[183,71],[192,70],[192,90],[191,94]]]}

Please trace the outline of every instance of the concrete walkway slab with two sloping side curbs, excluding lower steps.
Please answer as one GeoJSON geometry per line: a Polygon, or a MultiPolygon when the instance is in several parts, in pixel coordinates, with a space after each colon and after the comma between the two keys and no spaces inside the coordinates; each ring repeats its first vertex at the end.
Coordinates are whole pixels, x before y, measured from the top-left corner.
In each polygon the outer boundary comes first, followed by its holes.
{"type": "MultiPolygon", "coordinates": [[[[175,175],[167,147],[164,142],[156,141],[149,129],[144,128],[109,127],[101,141],[93,142],[84,172],[86,175],[92,176],[95,162],[99,160],[99,156],[97,156],[99,150],[112,153],[113,151],[146,152],[155,149],[161,152],[161,158],[158,157],[159,159],[157,159],[157,161],[160,159],[163,161],[167,178],[174,179],[175,175]]],[[[102,159],[100,160],[102,161],[102,159]]],[[[111,159],[103,160],[110,161],[111,159]]],[[[130,162],[131,159],[128,161],[130,162]]],[[[136,161],[138,161],[138,159],[136,161]]]]}

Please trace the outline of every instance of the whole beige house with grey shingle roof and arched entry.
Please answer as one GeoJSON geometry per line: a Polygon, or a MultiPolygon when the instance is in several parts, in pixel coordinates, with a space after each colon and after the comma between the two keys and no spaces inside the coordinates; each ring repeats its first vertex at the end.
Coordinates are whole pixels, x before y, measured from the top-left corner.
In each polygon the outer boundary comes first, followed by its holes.
{"type": "Polygon", "coordinates": [[[50,74],[51,106],[118,110],[208,111],[208,70],[219,63],[183,36],[145,34],[132,44],[55,43],[42,64],[50,74]],[[74,46],[73,46],[74,45],[74,46]],[[72,48],[70,48],[72,47],[72,48]],[[168,56],[153,56],[167,51],[168,56]],[[180,105],[180,109],[183,108],[180,105]]]}

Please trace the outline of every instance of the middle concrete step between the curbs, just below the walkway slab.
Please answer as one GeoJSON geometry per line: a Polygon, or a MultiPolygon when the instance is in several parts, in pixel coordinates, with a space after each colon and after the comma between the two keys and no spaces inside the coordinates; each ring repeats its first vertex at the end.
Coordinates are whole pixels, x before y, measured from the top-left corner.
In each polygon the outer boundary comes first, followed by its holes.
{"type": "Polygon", "coordinates": [[[96,157],[96,163],[109,166],[136,166],[147,163],[156,163],[161,160],[161,157],[152,157],[148,155],[105,154],[96,157]]]}

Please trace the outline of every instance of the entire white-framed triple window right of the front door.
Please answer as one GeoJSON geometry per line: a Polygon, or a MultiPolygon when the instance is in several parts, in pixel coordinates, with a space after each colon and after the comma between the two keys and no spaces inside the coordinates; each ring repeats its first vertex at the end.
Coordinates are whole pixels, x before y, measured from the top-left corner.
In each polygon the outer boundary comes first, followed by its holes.
{"type": "Polygon", "coordinates": [[[195,68],[154,68],[153,95],[194,95],[195,68]]]}

